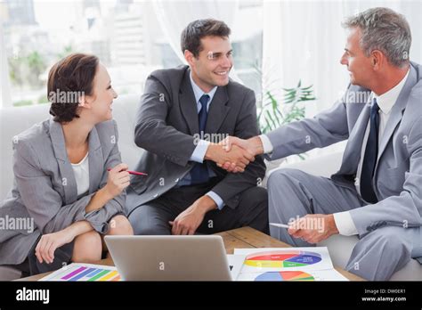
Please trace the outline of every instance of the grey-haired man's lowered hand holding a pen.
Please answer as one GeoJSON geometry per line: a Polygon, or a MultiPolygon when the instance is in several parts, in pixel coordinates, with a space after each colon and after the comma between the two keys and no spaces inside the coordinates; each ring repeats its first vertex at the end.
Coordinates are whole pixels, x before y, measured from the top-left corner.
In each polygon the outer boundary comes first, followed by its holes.
{"type": "Polygon", "coordinates": [[[288,223],[288,233],[309,243],[318,243],[326,240],[329,236],[337,234],[337,226],[334,216],[324,214],[308,214],[288,223]]]}

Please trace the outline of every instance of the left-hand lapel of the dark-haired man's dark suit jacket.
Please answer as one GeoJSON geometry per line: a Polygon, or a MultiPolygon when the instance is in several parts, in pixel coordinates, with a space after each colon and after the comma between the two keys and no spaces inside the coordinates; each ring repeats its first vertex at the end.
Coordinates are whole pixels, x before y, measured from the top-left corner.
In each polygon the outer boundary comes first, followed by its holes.
{"type": "Polygon", "coordinates": [[[191,135],[199,133],[198,108],[195,101],[195,95],[191,86],[189,77],[191,70],[187,69],[184,73],[182,85],[179,93],[179,103],[183,118],[189,127],[191,135]]]}

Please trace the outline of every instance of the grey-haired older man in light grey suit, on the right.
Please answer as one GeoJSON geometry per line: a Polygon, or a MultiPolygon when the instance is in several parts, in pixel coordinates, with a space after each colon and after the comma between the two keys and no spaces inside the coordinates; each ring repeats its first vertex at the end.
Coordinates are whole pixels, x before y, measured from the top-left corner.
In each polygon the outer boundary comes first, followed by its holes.
{"type": "Polygon", "coordinates": [[[351,85],[331,110],[248,141],[229,140],[280,159],[348,139],[330,179],[295,169],[270,176],[270,222],[291,226],[271,233],[295,246],[357,234],[346,269],[388,280],[411,257],[422,259],[422,66],[409,60],[409,24],[390,9],[361,12],[345,28],[341,63],[351,85]],[[318,223],[323,229],[312,229],[318,223]]]}

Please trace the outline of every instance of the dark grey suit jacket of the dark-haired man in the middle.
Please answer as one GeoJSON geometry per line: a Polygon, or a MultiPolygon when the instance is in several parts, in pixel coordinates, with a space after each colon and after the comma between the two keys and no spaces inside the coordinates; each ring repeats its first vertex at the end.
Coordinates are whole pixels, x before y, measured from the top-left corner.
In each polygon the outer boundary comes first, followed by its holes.
{"type": "MultiPolygon", "coordinates": [[[[194,165],[190,158],[196,147],[193,135],[199,133],[199,120],[189,74],[187,66],[161,69],[146,81],[134,141],[146,150],[136,169],[149,175],[132,177],[127,191],[127,215],[172,189],[194,165]]],[[[258,135],[254,92],[233,81],[218,87],[208,111],[206,133],[241,138],[258,135]]],[[[220,180],[212,191],[229,208],[237,208],[239,193],[256,186],[265,174],[261,156],[241,174],[228,174],[214,162],[207,161],[207,165],[220,180]]]]}

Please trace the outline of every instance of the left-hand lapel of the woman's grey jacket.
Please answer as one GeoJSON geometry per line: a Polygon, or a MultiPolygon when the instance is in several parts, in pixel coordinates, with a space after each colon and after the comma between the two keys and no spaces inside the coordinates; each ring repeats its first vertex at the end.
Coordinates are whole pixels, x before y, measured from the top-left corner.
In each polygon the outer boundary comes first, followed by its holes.
{"type": "Polygon", "coordinates": [[[63,129],[61,124],[53,121],[53,119],[50,119],[50,137],[52,139],[54,155],[57,159],[61,174],[64,202],[68,205],[77,200],[77,182],[75,180],[72,165],[70,165],[68,152],[66,151],[63,129]]]}

